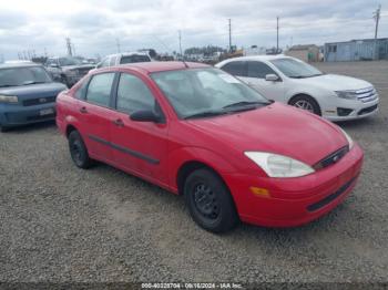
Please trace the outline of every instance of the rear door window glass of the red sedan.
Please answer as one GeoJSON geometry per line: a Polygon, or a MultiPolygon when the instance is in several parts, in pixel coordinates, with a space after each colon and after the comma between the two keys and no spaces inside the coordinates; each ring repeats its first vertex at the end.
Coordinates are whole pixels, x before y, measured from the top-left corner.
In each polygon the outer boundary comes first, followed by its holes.
{"type": "Polygon", "coordinates": [[[88,86],[88,102],[109,106],[114,73],[96,74],[88,86]]]}

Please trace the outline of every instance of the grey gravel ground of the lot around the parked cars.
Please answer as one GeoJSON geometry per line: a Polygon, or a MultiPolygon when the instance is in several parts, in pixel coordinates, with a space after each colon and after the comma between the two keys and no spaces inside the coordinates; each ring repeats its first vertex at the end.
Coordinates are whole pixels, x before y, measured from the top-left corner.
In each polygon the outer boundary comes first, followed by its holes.
{"type": "Polygon", "coordinates": [[[349,198],[294,229],[198,228],[183,198],[106,165],[78,169],[52,123],[0,134],[0,281],[388,281],[388,62],[324,63],[380,93],[340,124],[365,149],[349,198]]]}

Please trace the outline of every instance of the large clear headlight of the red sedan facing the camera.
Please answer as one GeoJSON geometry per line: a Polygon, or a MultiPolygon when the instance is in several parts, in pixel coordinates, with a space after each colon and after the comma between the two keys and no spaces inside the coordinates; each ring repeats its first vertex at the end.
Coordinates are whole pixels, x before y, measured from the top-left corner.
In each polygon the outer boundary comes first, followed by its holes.
{"type": "Polygon", "coordinates": [[[307,164],[287,156],[264,152],[245,152],[244,154],[269,177],[300,177],[315,172],[307,164]]]}

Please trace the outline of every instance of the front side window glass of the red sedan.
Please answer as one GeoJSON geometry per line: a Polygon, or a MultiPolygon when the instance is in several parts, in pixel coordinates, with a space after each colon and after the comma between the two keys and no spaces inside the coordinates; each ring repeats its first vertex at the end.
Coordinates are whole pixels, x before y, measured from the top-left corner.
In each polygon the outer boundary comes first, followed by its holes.
{"type": "Polygon", "coordinates": [[[155,99],[142,80],[122,73],[118,87],[116,108],[129,114],[136,111],[154,110],[155,99]]]}

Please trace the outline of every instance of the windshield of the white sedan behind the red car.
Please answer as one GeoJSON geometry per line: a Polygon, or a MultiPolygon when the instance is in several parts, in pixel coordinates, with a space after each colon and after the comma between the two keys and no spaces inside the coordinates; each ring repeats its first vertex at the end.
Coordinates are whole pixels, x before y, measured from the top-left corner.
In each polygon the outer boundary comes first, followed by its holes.
{"type": "Polygon", "coordinates": [[[277,59],[272,60],[270,62],[288,77],[303,79],[323,75],[320,71],[303,61],[294,59],[277,59]]]}

